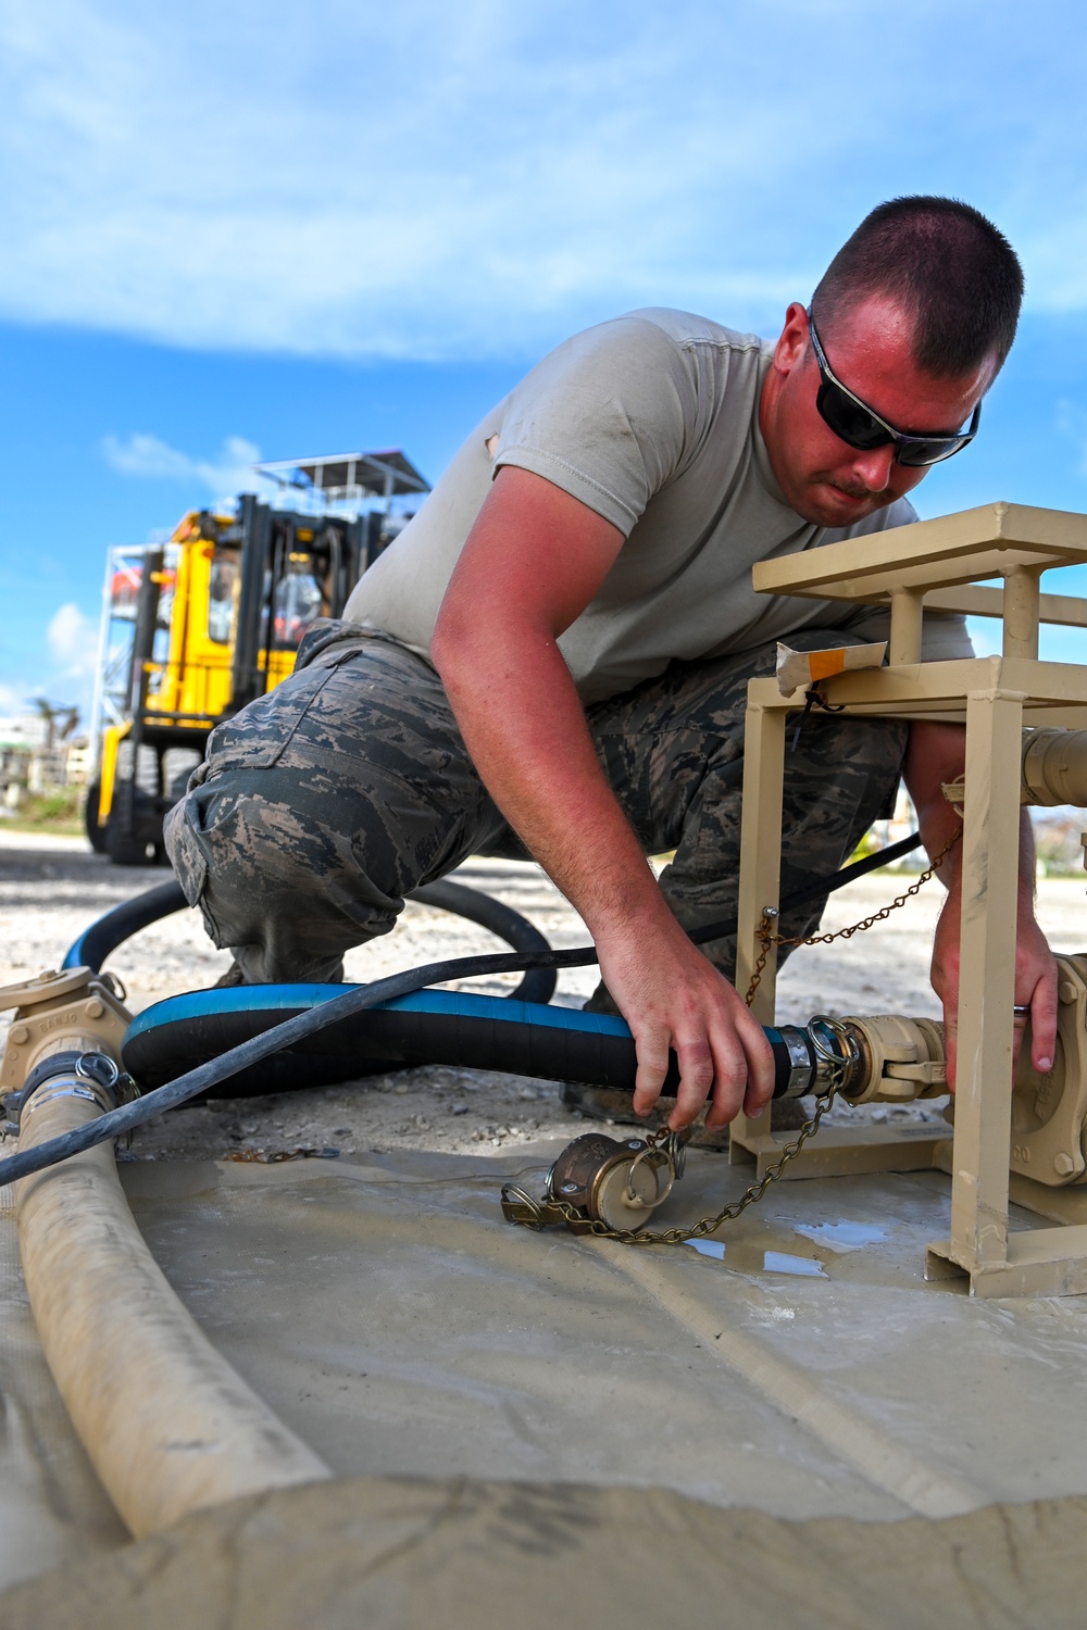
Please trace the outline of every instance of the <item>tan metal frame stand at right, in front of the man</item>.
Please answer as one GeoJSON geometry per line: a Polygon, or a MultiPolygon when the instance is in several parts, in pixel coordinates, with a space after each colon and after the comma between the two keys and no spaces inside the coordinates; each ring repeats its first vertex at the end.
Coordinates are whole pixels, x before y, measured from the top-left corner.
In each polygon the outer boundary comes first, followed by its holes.
{"type": "MultiPolygon", "coordinates": [[[[1045,597],[1041,572],[1087,562],[1087,515],[992,504],[919,522],[807,554],[764,561],[755,587],[890,605],[890,667],[825,681],[826,699],[877,717],[940,719],[966,725],[963,810],[962,983],[958,1090],[952,1152],[952,1234],[927,1252],[927,1278],[965,1275],[975,1296],[1054,1296],[1087,1291],[1087,1222],[1009,1234],[1012,1004],[1015,879],[1019,861],[1023,724],[1084,729],[1087,667],[1038,660],[1038,621],[1051,611],[1084,626],[1087,601],[1045,597]],[[976,587],[1001,577],[1002,592],[976,587]],[[965,585],[958,587],[957,585],[965,585]],[[1001,595],[1001,657],[921,662],[924,605],[994,615],[1001,595]]],[[[1056,618],[1054,618],[1056,619],[1056,618]]],[[[782,698],[774,680],[748,688],[737,985],[746,989],[759,954],[758,927],[777,906],[786,720],[803,691],[782,698]]],[[[774,1022],[776,957],[771,950],[753,1002],[774,1022]]],[[[781,1156],[789,1134],[769,1130],[769,1113],[732,1125],[732,1161],[755,1157],[759,1172],[781,1156]]],[[[947,1164],[947,1133],[931,1128],[825,1128],[787,1169],[790,1177],[859,1170],[911,1170],[947,1164]]],[[[1017,1178],[1015,1200],[1030,1205],[1041,1185],[1017,1178]]],[[[1053,1216],[1053,1190],[1036,1196],[1053,1216]]]]}

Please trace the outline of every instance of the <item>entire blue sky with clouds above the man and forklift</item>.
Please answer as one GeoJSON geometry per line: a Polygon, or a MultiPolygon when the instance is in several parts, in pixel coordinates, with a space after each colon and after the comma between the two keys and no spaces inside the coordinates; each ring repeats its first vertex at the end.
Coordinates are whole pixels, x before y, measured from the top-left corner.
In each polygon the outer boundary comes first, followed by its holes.
{"type": "Polygon", "coordinates": [[[772,334],[900,192],[984,209],[1028,279],[919,507],[1087,509],[1085,55],[1064,0],[7,0],[0,712],[86,698],[106,546],[251,458],[433,478],[580,326],[772,334]]]}

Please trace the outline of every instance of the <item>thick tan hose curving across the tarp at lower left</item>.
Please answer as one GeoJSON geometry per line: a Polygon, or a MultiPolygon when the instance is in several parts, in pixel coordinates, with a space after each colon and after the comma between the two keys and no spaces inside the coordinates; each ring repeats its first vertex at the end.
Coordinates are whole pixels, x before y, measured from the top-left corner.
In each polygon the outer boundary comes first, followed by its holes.
{"type": "MultiPolygon", "coordinates": [[[[24,1105],[20,1149],[112,1108],[75,1073],[24,1105]]],[[[143,1244],[109,1144],[15,1185],[23,1275],[49,1369],[140,1539],[202,1506],[331,1477],[181,1306],[143,1244]]]]}

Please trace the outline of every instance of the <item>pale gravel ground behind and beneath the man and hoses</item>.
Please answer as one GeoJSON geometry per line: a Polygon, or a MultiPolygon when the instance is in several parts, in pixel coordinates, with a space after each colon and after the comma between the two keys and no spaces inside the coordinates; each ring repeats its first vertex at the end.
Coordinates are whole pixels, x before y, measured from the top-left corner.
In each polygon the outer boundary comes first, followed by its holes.
{"type": "MultiPolygon", "coordinates": [[[[57,967],[77,934],[111,906],[165,882],[158,867],[114,867],[78,838],[0,831],[0,985],[57,967]]],[[[484,888],[528,916],[552,945],[587,942],[580,918],[539,867],[469,861],[458,882],[484,888]]],[[[830,932],[887,905],[913,882],[882,872],[831,898],[823,921],[830,932]]],[[[1054,950],[1084,950],[1084,883],[1043,880],[1040,918],[1054,950]]],[[[813,1012],[904,1012],[939,1017],[927,981],[932,929],[944,892],[939,882],[865,934],[794,954],[779,980],[779,1022],[803,1022],[813,1012]]],[[[484,929],[445,911],[407,906],[394,934],[347,957],[347,978],[368,980],[437,957],[497,950],[484,929]]],[[[225,952],[205,937],[199,914],[181,911],[122,945],[109,967],[121,975],[129,1006],[140,1011],[178,991],[212,985],[228,967],[225,952]]],[[[502,994],[517,975],[473,980],[463,989],[502,994]]],[[[566,970],[554,1001],[580,1007],[595,970],[566,970]]],[[[0,1014],[0,1038],[7,1015],[0,1014]]],[[[865,1112],[836,1110],[839,1117],[865,1112]]],[[[937,1105],[869,1110],[874,1118],[939,1115],[937,1105]]],[[[370,1077],[359,1086],[287,1092],[264,1099],[218,1100],[183,1108],[140,1128],[135,1159],[284,1157],[297,1151],[432,1149],[487,1154],[515,1144],[572,1136],[585,1125],[559,1102],[559,1087],[494,1073],[425,1068],[370,1077]]]]}

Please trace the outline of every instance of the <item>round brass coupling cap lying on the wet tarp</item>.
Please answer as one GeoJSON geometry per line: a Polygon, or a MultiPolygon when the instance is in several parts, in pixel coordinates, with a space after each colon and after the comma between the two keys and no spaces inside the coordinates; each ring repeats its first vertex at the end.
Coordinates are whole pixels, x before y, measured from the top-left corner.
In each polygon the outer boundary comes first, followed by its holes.
{"type": "Polygon", "coordinates": [[[683,1175],[688,1138],[689,1133],[657,1133],[650,1139],[619,1141],[598,1131],[583,1133],[548,1172],[541,1200],[507,1183],[502,1214],[507,1222],[533,1229],[566,1222],[574,1234],[595,1232],[600,1224],[637,1232],[683,1175]]]}

